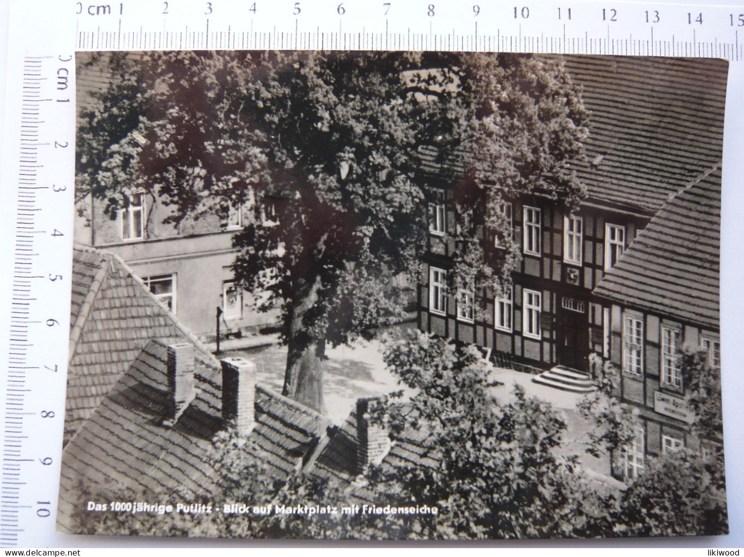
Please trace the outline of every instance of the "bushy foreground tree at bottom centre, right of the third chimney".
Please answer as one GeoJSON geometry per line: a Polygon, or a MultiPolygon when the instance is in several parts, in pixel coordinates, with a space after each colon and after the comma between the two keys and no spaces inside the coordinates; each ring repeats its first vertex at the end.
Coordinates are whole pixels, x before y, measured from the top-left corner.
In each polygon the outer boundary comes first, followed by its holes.
{"type": "Polygon", "coordinates": [[[519,387],[509,402],[498,402],[493,367],[475,347],[413,333],[392,345],[385,361],[418,394],[380,411],[390,416],[398,442],[422,454],[419,463],[383,466],[373,484],[390,504],[440,509],[434,519],[398,518],[397,535],[600,535],[612,497],[594,489],[575,457],[557,456],[565,431],[559,412],[519,387]]]}

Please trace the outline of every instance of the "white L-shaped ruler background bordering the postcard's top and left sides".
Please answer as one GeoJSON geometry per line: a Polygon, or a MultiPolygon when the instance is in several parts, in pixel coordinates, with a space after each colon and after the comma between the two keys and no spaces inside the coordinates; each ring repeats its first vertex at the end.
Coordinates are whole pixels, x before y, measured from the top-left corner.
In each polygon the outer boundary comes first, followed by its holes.
{"type": "MultiPolygon", "coordinates": [[[[5,239],[5,265],[0,267],[0,546],[82,544],[80,538],[54,533],[70,315],[74,50],[327,48],[726,57],[734,62],[729,98],[739,99],[744,95],[744,66],[737,63],[744,60],[742,33],[744,2],[13,0],[0,190],[5,239]]],[[[722,259],[731,262],[738,260],[736,242],[725,239],[744,236],[744,202],[732,196],[734,178],[744,173],[738,156],[744,109],[728,106],[726,119],[722,259]]],[[[729,268],[722,283],[722,298],[727,299],[728,288],[734,300],[722,305],[724,323],[727,315],[744,312],[731,274],[729,268]]],[[[736,268],[733,274],[743,272],[736,268]]],[[[735,347],[742,329],[738,321],[724,325],[722,344],[735,347]]],[[[741,413],[733,396],[724,392],[725,408],[741,413]]],[[[737,450],[727,445],[727,462],[744,459],[737,450]]],[[[737,474],[728,477],[732,484],[738,481],[737,474]]],[[[730,492],[736,492],[734,485],[730,492]]],[[[737,504],[729,501],[731,524],[742,515],[737,504]]],[[[649,543],[655,542],[670,543],[649,543]]],[[[710,540],[703,543],[711,546],[710,540]]]]}

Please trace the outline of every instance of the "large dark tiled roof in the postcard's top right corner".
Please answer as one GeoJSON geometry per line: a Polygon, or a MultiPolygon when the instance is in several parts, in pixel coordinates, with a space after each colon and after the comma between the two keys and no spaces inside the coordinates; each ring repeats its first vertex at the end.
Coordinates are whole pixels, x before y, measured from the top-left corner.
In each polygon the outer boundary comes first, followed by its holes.
{"type": "Polygon", "coordinates": [[[721,159],[728,62],[658,57],[565,57],[590,112],[594,199],[655,212],[721,159]]]}

